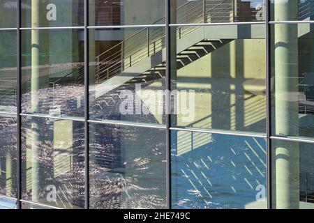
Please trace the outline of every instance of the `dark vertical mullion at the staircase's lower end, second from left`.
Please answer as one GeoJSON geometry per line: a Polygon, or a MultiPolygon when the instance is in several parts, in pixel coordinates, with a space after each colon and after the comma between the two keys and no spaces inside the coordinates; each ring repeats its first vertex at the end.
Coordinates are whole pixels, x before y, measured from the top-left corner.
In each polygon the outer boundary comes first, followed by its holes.
{"type": "Polygon", "coordinates": [[[89,1],[84,0],[84,160],[85,209],[89,209],[89,1]]]}

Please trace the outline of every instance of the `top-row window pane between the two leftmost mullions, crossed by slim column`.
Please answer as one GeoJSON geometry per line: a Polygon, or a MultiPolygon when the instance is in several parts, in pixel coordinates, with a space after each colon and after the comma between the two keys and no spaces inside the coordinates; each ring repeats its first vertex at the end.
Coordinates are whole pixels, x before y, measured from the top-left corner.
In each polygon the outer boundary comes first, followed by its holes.
{"type": "Polygon", "coordinates": [[[84,26],[84,0],[22,0],[22,27],[84,26]]]}

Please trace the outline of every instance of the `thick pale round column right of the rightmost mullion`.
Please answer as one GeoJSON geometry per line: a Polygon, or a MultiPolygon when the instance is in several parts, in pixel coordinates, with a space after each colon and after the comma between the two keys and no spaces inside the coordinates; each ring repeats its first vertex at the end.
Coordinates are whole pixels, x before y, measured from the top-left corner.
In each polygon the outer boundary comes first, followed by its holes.
{"type": "MultiPolygon", "coordinates": [[[[297,1],[275,1],[275,20],[294,21],[297,1]]],[[[299,132],[297,24],[275,25],[276,134],[299,132]]],[[[299,144],[276,142],[276,208],[299,208],[299,144]]]]}

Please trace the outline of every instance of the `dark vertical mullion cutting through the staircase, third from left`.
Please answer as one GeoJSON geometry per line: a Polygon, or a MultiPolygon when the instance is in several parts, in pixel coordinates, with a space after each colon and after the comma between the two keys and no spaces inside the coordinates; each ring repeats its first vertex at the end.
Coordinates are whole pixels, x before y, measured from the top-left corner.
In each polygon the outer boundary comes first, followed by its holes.
{"type": "Polygon", "coordinates": [[[167,208],[171,209],[171,109],[170,109],[170,90],[171,90],[171,82],[170,82],[170,58],[171,58],[171,51],[170,51],[170,1],[165,0],[165,42],[166,42],[166,72],[165,72],[165,90],[169,92],[166,94],[166,102],[165,102],[165,125],[166,125],[166,159],[167,159],[167,170],[166,170],[166,199],[167,199],[167,208]]]}

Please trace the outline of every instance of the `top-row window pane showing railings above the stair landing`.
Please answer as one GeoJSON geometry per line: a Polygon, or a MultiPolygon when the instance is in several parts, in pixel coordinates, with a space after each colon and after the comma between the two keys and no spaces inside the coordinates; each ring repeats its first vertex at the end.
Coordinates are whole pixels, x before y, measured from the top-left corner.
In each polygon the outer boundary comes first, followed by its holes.
{"type": "Polygon", "coordinates": [[[264,21],[264,1],[176,0],[171,2],[177,24],[214,22],[260,22],[264,21]],[[176,10],[175,10],[176,9],[176,10]]]}

